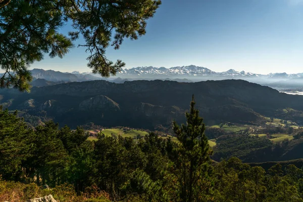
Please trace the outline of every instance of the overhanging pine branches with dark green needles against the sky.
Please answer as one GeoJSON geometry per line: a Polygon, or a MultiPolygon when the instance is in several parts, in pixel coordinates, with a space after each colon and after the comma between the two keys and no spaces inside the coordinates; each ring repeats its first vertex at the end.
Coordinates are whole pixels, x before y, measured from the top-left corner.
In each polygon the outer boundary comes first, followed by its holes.
{"type": "Polygon", "coordinates": [[[43,54],[64,57],[81,34],[89,53],[88,67],[104,77],[115,75],[125,63],[105,57],[109,45],[118,49],[123,39],[145,34],[146,20],[153,17],[160,0],[127,1],[12,1],[0,2],[0,67],[5,71],[0,86],[29,91],[28,68],[43,54]],[[72,22],[70,38],[60,28],[72,22]],[[112,35],[114,33],[114,35],[112,35]]]}

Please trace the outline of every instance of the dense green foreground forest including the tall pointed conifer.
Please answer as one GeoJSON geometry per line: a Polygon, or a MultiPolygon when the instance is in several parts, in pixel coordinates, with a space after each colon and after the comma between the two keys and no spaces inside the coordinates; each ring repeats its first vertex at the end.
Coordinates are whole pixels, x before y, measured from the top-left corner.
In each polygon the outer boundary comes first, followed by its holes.
{"type": "Polygon", "coordinates": [[[303,201],[301,168],[275,164],[265,170],[229,156],[211,160],[194,104],[186,125],[172,124],[179,143],[154,132],[140,139],[99,133],[89,141],[80,127],[49,121],[33,129],[17,112],[1,110],[0,200],[51,193],[60,201],[303,201]]]}

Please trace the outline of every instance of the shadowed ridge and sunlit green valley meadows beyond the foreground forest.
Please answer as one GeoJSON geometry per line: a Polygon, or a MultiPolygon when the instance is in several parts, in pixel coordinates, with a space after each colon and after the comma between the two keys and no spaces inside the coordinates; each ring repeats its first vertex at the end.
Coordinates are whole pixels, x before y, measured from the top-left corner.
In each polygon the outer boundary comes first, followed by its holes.
{"type": "Polygon", "coordinates": [[[83,126],[91,141],[97,140],[98,133],[138,140],[156,131],[160,138],[174,142],[179,140],[173,135],[172,121],[185,122],[192,94],[207,126],[213,160],[235,156],[252,163],[303,158],[298,135],[303,96],[244,80],[94,80],[33,87],[30,93],[0,92],[3,108],[18,110],[31,127],[54,120],[60,127],[83,126]]]}

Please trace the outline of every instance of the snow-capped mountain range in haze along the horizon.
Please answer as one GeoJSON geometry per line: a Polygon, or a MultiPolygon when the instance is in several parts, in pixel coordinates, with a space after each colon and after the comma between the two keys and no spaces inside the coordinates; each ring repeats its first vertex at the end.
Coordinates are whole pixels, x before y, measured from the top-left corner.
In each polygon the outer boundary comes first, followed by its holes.
{"type": "MultiPolygon", "coordinates": [[[[42,78],[51,81],[57,80],[67,80],[67,81],[85,81],[85,80],[96,80],[105,79],[100,77],[98,74],[92,74],[91,72],[79,72],[73,71],[68,72],[55,72],[53,70],[42,70],[33,69],[32,75],[35,78],[42,78]],[[62,75],[61,75],[62,74],[62,75]],[[61,78],[61,77],[64,77],[61,78]]],[[[302,78],[303,73],[298,74],[287,74],[287,73],[270,73],[270,74],[255,74],[245,71],[236,71],[230,69],[226,72],[215,72],[205,67],[198,67],[194,65],[182,66],[182,67],[136,67],[130,69],[122,69],[121,72],[117,73],[115,77],[110,77],[109,79],[116,78],[138,80],[138,79],[190,79],[192,81],[198,80],[222,80],[222,79],[243,79],[256,83],[269,83],[270,81],[280,81],[293,78],[302,78]],[[257,82],[258,81],[258,82],[257,82]]]]}

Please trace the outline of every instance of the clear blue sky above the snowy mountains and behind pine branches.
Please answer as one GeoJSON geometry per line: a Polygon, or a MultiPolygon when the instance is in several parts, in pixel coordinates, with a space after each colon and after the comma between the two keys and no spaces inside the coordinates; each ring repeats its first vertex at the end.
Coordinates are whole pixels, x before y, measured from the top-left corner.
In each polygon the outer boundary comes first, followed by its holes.
{"type": "MultiPolygon", "coordinates": [[[[118,51],[109,47],[107,57],[123,60],[126,68],[303,72],[303,0],[163,0],[146,31],[138,40],[126,39],[118,51]]],[[[64,59],[45,56],[32,68],[90,71],[86,57],[75,47],[64,59]]]]}

